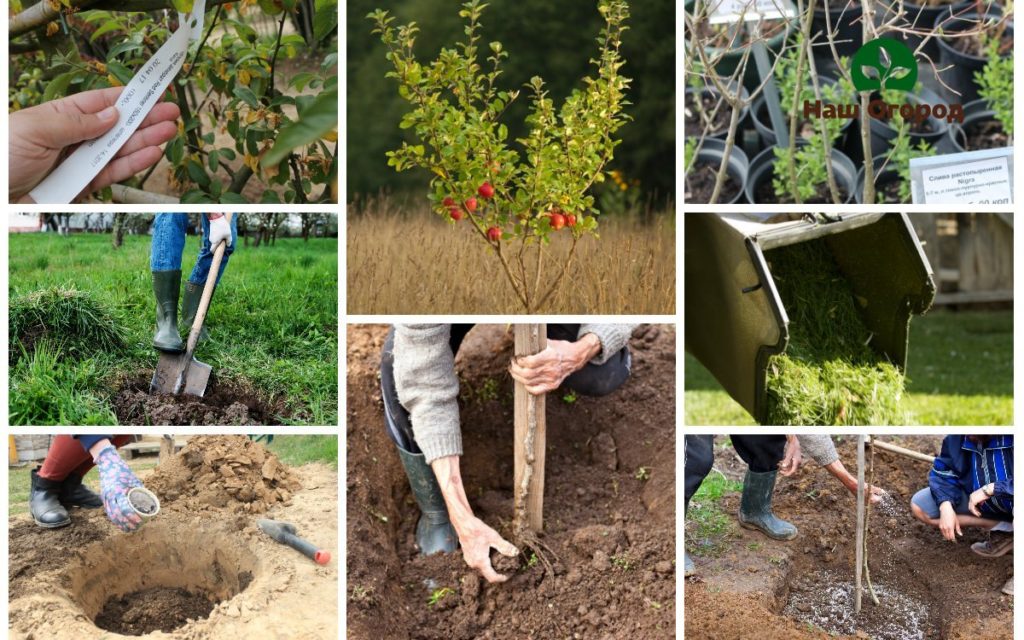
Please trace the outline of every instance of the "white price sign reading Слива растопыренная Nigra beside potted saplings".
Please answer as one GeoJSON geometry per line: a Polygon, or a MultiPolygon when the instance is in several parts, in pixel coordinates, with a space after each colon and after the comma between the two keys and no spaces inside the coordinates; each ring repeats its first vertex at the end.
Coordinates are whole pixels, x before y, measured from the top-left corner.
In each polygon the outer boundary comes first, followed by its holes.
{"type": "Polygon", "coordinates": [[[910,161],[915,205],[1014,204],[1013,147],[948,154],[910,161]]]}

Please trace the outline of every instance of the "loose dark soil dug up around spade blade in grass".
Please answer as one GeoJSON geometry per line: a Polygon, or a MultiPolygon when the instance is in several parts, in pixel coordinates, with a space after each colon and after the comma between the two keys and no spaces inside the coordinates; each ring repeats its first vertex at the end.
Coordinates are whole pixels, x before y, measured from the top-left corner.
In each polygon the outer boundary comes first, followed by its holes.
{"type": "Polygon", "coordinates": [[[226,380],[210,378],[204,397],[150,394],[150,378],[126,382],[113,399],[114,413],[123,425],[266,425],[280,422],[282,408],[274,408],[226,380]]]}

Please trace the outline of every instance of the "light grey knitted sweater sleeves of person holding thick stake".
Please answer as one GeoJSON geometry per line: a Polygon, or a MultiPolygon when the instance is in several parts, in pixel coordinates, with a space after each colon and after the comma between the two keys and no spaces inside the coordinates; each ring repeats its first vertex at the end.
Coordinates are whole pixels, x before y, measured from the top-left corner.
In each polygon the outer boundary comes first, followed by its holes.
{"type": "MultiPolygon", "coordinates": [[[[581,325],[579,336],[594,334],[602,365],[626,346],[636,325],[581,325]]],[[[398,401],[410,414],[413,436],[429,464],[462,455],[459,428],[459,378],[449,348],[451,325],[394,326],[394,382],[398,401]]]]}

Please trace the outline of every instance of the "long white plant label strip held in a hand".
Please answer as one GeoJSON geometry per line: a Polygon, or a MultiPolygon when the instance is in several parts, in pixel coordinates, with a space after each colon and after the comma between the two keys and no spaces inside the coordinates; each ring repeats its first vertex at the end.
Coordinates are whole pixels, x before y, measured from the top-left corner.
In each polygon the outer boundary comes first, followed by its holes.
{"type": "Polygon", "coordinates": [[[29,194],[38,204],[73,201],[102,171],[160,100],[188,54],[188,45],[203,34],[206,0],[196,0],[191,13],[178,13],[181,25],[153,54],[121,93],[118,123],[98,138],[83,142],[75,153],[29,194]]]}

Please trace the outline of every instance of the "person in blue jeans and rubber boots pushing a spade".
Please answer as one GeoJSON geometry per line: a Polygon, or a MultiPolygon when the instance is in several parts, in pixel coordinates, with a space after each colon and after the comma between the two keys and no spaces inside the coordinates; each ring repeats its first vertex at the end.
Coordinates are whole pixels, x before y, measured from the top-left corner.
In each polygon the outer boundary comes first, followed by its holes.
{"type": "MultiPolygon", "coordinates": [[[[181,318],[185,331],[196,319],[196,311],[203,298],[203,288],[210,275],[217,245],[227,241],[224,258],[220,261],[220,270],[217,272],[216,282],[219,283],[231,254],[234,253],[238,239],[237,215],[231,216],[230,222],[224,213],[203,213],[200,214],[200,219],[203,223],[203,243],[181,299],[181,318]]],[[[157,298],[157,333],[153,338],[153,346],[168,353],[182,353],[185,350],[185,343],[178,331],[178,298],[181,294],[181,254],[185,249],[187,230],[187,213],[158,213],[153,223],[150,269],[153,271],[153,293],[157,298]]],[[[205,340],[207,336],[204,326],[200,340],[205,340]]]]}

